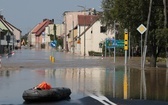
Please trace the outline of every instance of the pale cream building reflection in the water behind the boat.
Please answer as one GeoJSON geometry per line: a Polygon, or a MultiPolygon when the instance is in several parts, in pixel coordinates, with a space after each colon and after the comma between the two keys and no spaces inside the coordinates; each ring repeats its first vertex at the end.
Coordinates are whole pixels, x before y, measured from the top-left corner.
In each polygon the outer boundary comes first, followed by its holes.
{"type": "Polygon", "coordinates": [[[55,78],[56,86],[67,86],[82,93],[100,92],[101,83],[104,83],[102,74],[104,70],[99,68],[46,70],[46,76],[55,78]]]}

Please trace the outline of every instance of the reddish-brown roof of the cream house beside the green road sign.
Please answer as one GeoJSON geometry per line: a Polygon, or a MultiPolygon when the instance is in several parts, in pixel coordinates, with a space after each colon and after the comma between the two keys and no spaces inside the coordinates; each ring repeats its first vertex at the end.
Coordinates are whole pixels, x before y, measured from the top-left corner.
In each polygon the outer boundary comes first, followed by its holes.
{"type": "Polygon", "coordinates": [[[98,15],[78,15],[78,25],[88,26],[99,19],[98,15]]]}

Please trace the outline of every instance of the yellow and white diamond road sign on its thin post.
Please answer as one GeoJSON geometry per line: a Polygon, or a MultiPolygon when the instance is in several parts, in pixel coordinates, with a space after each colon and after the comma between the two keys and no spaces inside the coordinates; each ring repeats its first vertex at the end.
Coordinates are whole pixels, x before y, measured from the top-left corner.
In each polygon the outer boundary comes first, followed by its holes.
{"type": "MultiPolygon", "coordinates": [[[[141,33],[141,68],[142,68],[142,66],[144,67],[144,65],[142,65],[143,64],[143,58],[142,58],[142,34],[147,30],[147,28],[143,25],[143,24],[141,24],[138,28],[137,28],[137,30],[139,31],[139,33],[141,33]]],[[[145,56],[145,55],[144,55],[145,56]]],[[[145,62],[145,61],[144,61],[145,62]]]]}

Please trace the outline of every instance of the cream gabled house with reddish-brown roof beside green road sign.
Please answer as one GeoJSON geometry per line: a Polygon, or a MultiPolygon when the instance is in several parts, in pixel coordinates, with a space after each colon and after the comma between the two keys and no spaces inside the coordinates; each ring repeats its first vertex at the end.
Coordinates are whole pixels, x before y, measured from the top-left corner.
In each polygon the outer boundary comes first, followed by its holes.
{"type": "Polygon", "coordinates": [[[99,15],[78,15],[78,32],[77,39],[80,43],[76,42],[76,52],[84,56],[88,56],[90,51],[101,53],[99,44],[106,38],[113,37],[106,32],[99,15]]]}

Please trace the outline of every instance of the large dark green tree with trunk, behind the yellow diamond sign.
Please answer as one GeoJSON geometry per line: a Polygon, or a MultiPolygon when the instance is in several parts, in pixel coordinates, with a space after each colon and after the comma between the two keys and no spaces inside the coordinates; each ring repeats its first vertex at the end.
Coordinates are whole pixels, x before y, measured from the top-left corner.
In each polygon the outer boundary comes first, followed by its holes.
{"type": "MultiPolygon", "coordinates": [[[[146,43],[148,45],[148,55],[151,57],[150,63],[154,67],[156,66],[156,59],[161,51],[163,51],[163,46],[166,43],[165,40],[163,41],[163,38],[167,38],[165,34],[160,35],[166,31],[162,30],[163,32],[161,32],[160,30],[164,28],[164,12],[163,6],[160,6],[161,3],[163,4],[163,1],[160,0],[153,0],[152,2],[149,35],[146,38],[148,40],[146,43]]],[[[136,29],[140,24],[147,25],[147,16],[150,12],[149,7],[150,0],[103,0],[103,18],[101,21],[108,29],[112,29],[113,21],[116,20],[122,30],[127,28],[132,33],[131,43],[140,45],[140,34],[136,29]]]]}

